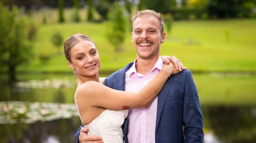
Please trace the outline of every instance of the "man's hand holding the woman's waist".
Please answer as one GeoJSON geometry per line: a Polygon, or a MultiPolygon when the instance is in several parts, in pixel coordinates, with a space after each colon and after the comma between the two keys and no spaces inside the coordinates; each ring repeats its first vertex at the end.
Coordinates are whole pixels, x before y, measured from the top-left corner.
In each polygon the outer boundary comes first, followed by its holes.
{"type": "Polygon", "coordinates": [[[103,143],[103,140],[99,136],[90,136],[87,134],[88,128],[81,128],[78,140],[80,143],[103,143]]]}

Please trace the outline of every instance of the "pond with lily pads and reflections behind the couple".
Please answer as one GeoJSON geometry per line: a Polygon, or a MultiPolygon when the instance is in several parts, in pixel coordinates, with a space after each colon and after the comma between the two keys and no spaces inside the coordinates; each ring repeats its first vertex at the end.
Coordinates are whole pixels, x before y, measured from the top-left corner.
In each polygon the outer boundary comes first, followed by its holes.
{"type": "MultiPolygon", "coordinates": [[[[195,83],[199,82],[197,84],[199,98],[200,101],[203,101],[201,107],[204,118],[204,142],[256,142],[256,104],[252,104],[256,101],[248,99],[246,104],[209,102],[205,96],[200,96],[200,92],[219,94],[221,89],[201,90],[205,89],[201,85],[205,86],[203,82],[206,82],[202,79],[211,79],[215,83],[214,79],[219,75],[197,74],[193,76],[195,83]]],[[[255,86],[255,81],[249,80],[252,78],[255,79],[255,75],[250,76],[247,82],[253,82],[255,86]]],[[[0,76],[0,79],[1,143],[75,142],[74,132],[81,122],[73,103],[76,80],[71,74],[20,74],[18,75],[20,82],[12,84],[6,82],[5,75],[0,76]]],[[[240,77],[237,80],[240,80],[240,77]]],[[[246,85],[246,82],[242,81],[246,85]]],[[[232,82],[234,81],[232,80],[232,82]]],[[[223,93],[223,95],[226,94],[226,92],[223,93]]],[[[229,94],[233,93],[229,92],[229,94]]],[[[243,96],[246,98],[246,95],[243,96]]],[[[232,95],[225,96],[223,102],[229,103],[228,99],[232,99],[231,97],[232,95]]]]}

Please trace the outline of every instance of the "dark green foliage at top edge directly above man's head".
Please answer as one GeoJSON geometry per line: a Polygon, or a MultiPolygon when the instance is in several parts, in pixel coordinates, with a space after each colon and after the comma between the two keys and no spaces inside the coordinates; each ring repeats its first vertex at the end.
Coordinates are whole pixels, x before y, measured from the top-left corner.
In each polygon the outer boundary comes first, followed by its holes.
{"type": "Polygon", "coordinates": [[[161,13],[167,13],[171,10],[170,0],[147,0],[143,2],[144,6],[150,10],[155,10],[161,13]]]}

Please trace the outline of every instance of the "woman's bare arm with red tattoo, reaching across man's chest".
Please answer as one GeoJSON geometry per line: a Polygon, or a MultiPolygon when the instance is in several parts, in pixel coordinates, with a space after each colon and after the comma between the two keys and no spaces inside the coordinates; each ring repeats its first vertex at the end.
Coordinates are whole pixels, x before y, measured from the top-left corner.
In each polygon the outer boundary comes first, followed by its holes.
{"type": "MultiPolygon", "coordinates": [[[[170,72],[170,74],[179,72],[172,63],[165,63],[163,69],[170,72]]],[[[83,103],[86,107],[102,107],[112,110],[146,107],[161,91],[168,77],[169,74],[161,70],[157,76],[138,93],[118,91],[98,82],[88,81],[78,87],[76,98],[77,101],[83,103]]]]}

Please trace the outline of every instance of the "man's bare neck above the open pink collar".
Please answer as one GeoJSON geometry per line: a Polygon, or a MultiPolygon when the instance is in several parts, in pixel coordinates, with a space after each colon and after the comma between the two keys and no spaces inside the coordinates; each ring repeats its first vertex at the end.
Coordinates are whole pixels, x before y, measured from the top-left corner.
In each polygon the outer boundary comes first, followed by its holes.
{"type": "Polygon", "coordinates": [[[156,56],[150,59],[142,59],[137,56],[136,71],[143,75],[146,75],[150,70],[152,70],[158,58],[159,56],[156,56]]]}

